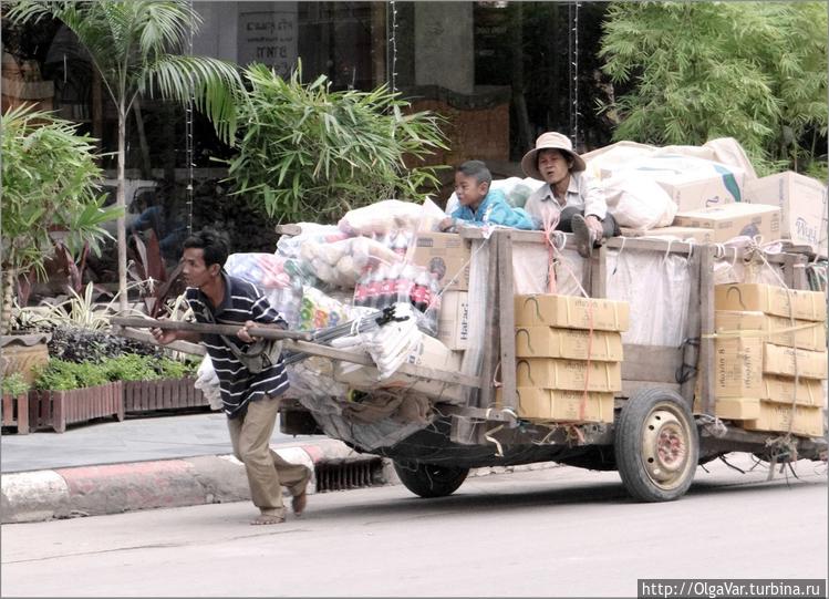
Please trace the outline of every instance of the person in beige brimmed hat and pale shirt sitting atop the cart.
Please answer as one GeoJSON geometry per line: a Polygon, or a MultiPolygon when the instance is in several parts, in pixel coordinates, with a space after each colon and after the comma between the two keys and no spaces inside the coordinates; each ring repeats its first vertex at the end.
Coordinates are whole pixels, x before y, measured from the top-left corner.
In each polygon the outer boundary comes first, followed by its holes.
{"type": "Polygon", "coordinates": [[[541,134],[536,147],[521,158],[521,168],[527,176],[547,183],[524,206],[538,228],[556,224],[556,229],[574,234],[576,247],[586,258],[602,239],[620,235],[604,194],[584,173],[584,161],[573,152],[569,137],[556,132],[541,134]]]}

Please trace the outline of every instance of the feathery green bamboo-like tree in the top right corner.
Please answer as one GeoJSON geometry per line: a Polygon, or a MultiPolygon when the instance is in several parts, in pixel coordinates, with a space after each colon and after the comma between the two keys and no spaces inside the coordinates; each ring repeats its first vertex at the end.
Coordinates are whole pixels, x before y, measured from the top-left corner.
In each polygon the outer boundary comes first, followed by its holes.
{"type": "Polygon", "coordinates": [[[827,131],[827,11],[818,2],[614,2],[603,70],[628,89],[615,140],[733,136],[760,171],[806,169],[827,131]]]}

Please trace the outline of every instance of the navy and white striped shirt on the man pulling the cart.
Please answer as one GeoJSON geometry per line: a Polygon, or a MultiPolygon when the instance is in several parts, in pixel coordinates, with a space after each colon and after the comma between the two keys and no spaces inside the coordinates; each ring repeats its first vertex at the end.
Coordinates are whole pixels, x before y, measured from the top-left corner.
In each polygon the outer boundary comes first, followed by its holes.
{"type": "MultiPolygon", "coordinates": [[[[225,298],[216,309],[200,289],[187,288],[185,297],[197,322],[215,321],[217,324],[239,324],[241,328],[246,321],[252,320],[262,324],[280,323],[288,328],[282,314],[271,307],[255,286],[231,277],[224,269],[221,276],[225,279],[225,298]],[[213,319],[209,318],[208,310],[213,312],[213,319]]],[[[241,351],[249,345],[236,335],[225,337],[241,351]]],[[[253,374],[242,365],[220,335],[203,333],[201,344],[210,355],[213,368],[219,379],[221,403],[227,417],[235,419],[243,414],[248,409],[248,402],[266,395],[281,395],[288,390],[288,374],[281,355],[276,364],[253,374]]]]}

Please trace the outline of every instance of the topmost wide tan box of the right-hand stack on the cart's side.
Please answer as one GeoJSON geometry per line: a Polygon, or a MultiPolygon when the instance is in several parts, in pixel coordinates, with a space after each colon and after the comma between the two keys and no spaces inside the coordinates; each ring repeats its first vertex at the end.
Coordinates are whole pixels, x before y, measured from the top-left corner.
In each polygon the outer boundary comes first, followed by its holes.
{"type": "Polygon", "coordinates": [[[717,310],[757,311],[800,320],[826,321],[826,295],[760,283],[727,283],[714,287],[717,310]],[[794,314],[791,313],[794,312],[794,314]]]}

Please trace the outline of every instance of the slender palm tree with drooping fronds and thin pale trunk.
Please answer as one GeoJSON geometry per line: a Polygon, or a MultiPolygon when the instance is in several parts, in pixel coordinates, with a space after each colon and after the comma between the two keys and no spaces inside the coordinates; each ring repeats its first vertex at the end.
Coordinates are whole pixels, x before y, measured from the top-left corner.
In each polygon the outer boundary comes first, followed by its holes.
{"type": "Polygon", "coordinates": [[[123,210],[126,117],[135,100],[157,90],[162,97],[195,103],[224,141],[236,130],[236,101],[243,90],[236,65],[182,55],[200,17],[186,0],[22,0],[9,12],[18,22],[61,20],[83,44],[118,113],[118,296],[126,310],[126,231],[123,210]]]}

